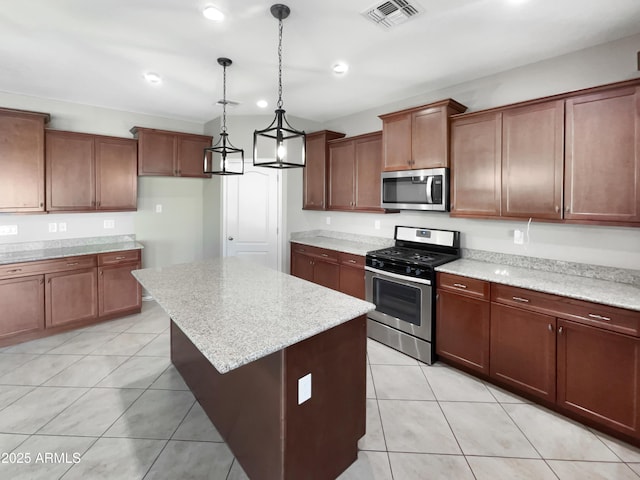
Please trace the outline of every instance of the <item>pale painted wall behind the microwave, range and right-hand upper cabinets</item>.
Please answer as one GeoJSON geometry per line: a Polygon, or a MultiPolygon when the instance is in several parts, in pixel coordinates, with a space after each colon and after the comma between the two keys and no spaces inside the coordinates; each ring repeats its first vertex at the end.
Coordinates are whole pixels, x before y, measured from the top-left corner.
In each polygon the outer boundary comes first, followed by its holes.
{"type": "MultiPolygon", "coordinates": [[[[635,35],[447,89],[425,89],[423,95],[335,119],[327,122],[325,128],[351,136],[380,130],[379,114],[443,98],[454,98],[474,111],[637,78],[640,77],[636,63],[639,45],[640,35],[635,35]]],[[[461,231],[462,244],[467,248],[640,269],[640,228],[538,221],[528,226],[526,221],[455,219],[443,213],[410,211],[390,215],[303,211],[298,207],[302,203],[302,190],[291,189],[289,193],[289,231],[332,229],[393,238],[395,225],[444,228],[461,231]],[[380,221],[379,230],[374,226],[376,220],[380,221]],[[529,242],[514,245],[513,230],[527,231],[528,227],[529,242]]]]}

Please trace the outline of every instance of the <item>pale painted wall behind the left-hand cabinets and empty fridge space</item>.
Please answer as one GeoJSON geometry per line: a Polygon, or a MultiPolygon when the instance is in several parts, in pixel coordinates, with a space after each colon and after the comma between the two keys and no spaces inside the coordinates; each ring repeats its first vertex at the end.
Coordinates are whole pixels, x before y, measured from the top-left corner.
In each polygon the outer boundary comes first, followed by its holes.
{"type": "MultiPolygon", "coordinates": [[[[49,128],[131,138],[135,125],[203,133],[201,124],[133,112],[79,105],[0,92],[0,106],[48,112],[49,128]]],[[[0,243],[135,234],[145,245],[143,265],[157,267],[202,258],[202,179],[140,177],[138,211],[121,213],[70,213],[18,215],[0,213],[0,225],[17,225],[18,235],[0,237],[0,243]],[[161,214],[155,205],[161,204],[161,214]],[[112,219],[114,229],[104,229],[112,219]],[[49,233],[48,224],[67,223],[67,232],[49,233]]]]}

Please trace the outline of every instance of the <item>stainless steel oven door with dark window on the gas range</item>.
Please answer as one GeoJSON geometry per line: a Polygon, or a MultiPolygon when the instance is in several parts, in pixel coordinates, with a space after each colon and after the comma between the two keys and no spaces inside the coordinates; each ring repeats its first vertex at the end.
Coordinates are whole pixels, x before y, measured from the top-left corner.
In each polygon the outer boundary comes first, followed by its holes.
{"type": "Polygon", "coordinates": [[[365,298],[372,320],[431,342],[431,282],[365,267],[365,298]]]}

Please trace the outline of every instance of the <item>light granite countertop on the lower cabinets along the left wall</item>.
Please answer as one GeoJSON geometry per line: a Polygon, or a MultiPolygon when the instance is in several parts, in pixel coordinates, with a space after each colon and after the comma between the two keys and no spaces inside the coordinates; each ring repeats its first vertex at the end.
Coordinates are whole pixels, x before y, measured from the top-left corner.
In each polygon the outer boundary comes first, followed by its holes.
{"type": "Polygon", "coordinates": [[[8,263],[35,262],[56,258],[75,257],[78,255],[95,255],[98,253],[120,252],[124,250],[140,250],[142,244],[135,240],[88,245],[55,246],[41,249],[0,252],[0,265],[8,263]]]}

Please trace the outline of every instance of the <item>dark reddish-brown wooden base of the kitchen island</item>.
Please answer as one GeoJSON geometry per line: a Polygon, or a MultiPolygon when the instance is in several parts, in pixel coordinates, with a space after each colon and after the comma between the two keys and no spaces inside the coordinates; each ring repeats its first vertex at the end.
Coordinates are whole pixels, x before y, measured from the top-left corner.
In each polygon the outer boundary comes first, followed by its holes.
{"type": "Polygon", "coordinates": [[[220,374],[171,322],[171,361],[252,480],[331,480],[366,425],[366,321],[360,316],[220,374]],[[311,397],[298,404],[299,379],[311,397]]]}

